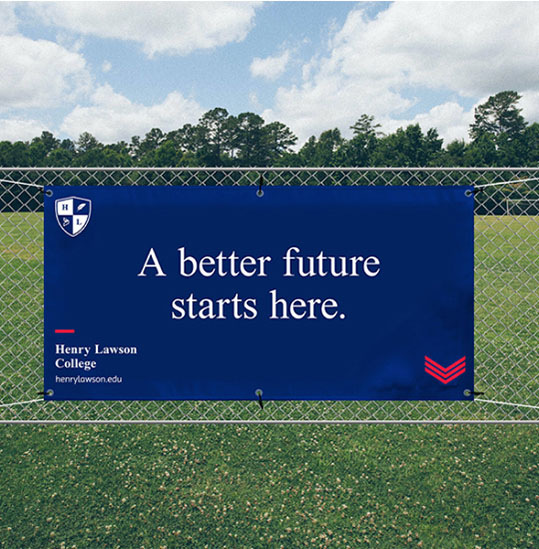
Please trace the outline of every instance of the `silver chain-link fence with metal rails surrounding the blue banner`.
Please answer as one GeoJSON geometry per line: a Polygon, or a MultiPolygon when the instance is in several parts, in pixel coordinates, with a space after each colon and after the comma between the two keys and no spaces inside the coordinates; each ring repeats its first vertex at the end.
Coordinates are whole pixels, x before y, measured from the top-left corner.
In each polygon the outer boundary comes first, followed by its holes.
{"type": "Polygon", "coordinates": [[[539,168],[0,168],[0,422],[539,422],[539,168]],[[530,181],[531,179],[531,181],[530,181]],[[519,182],[527,180],[524,182],[519,182]],[[511,182],[507,185],[494,183],[511,182]],[[43,185],[492,185],[475,195],[474,402],[44,402],[43,185]]]}

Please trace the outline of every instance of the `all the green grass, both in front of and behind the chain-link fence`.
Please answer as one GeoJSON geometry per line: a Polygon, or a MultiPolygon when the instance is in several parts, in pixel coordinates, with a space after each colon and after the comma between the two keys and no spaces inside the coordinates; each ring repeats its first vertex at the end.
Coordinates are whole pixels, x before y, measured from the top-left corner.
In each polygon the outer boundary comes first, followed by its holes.
{"type": "MultiPolygon", "coordinates": [[[[537,404],[537,227],[476,219],[477,371],[497,400],[537,404]]],[[[38,214],[0,216],[2,402],[34,398],[42,383],[40,234],[38,214]]],[[[35,406],[0,418],[36,417],[35,406]]],[[[534,547],[538,435],[533,425],[0,426],[0,547],[534,547]]]]}

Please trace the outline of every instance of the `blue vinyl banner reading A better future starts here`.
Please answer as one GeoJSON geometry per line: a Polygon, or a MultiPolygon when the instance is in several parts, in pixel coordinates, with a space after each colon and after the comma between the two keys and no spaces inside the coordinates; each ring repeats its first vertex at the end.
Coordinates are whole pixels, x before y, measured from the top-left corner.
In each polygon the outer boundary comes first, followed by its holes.
{"type": "Polygon", "coordinates": [[[470,187],[46,191],[46,399],[473,399],[470,187]]]}

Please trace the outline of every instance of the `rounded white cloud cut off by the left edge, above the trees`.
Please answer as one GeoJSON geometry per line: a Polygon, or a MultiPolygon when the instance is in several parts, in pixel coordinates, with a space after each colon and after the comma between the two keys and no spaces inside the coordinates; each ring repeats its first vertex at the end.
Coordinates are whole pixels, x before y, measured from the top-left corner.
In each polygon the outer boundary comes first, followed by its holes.
{"type": "Polygon", "coordinates": [[[48,40],[0,36],[0,111],[45,108],[88,89],[84,57],[48,40]]]}

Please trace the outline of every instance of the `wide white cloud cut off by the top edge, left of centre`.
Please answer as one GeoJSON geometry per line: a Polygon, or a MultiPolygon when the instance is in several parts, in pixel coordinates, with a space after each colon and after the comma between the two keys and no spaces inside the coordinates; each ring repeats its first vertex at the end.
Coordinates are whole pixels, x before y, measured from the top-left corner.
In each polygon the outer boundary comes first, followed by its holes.
{"type": "Polygon", "coordinates": [[[35,4],[46,22],[73,32],[130,40],[144,52],[186,55],[245,38],[261,2],[61,2],[35,4]]]}

